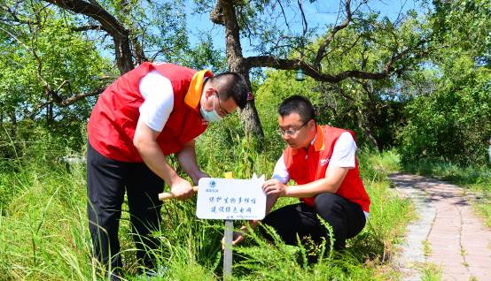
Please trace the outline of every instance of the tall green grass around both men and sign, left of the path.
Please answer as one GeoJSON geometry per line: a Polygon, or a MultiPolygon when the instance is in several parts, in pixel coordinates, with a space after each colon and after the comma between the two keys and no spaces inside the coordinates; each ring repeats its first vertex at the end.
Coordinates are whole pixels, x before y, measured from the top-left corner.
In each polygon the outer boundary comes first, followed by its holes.
{"type": "MultiPolygon", "coordinates": [[[[234,171],[240,178],[252,172],[270,176],[275,152],[257,152],[252,141],[235,135],[225,153],[200,149],[200,163],[215,177],[234,171]],[[211,157],[210,155],[214,155],[211,157]]],[[[206,140],[205,140],[206,143],[206,140]]],[[[0,280],[102,280],[99,264],[90,259],[91,242],[86,212],[85,168],[66,167],[58,161],[55,143],[41,152],[19,155],[15,162],[2,161],[0,174],[0,280]],[[50,149],[47,149],[50,148],[50,149]]],[[[36,148],[43,147],[38,144],[36,148]]],[[[28,149],[27,149],[28,150],[28,149]]],[[[370,221],[363,232],[348,241],[344,254],[323,255],[327,249],[290,247],[247,239],[234,248],[235,280],[392,280],[390,266],[395,244],[412,218],[410,203],[400,200],[386,181],[386,171],[397,169],[394,154],[363,152],[360,166],[372,200],[370,221]],[[375,169],[375,168],[377,169],[375,169]],[[320,262],[308,264],[306,254],[320,262]]],[[[279,205],[294,200],[282,200],[279,205]]],[[[278,206],[279,206],[278,205],[278,206]]],[[[152,280],[221,280],[222,221],[199,220],[195,201],[167,201],[163,221],[154,235],[161,240],[153,254],[159,262],[152,280]]],[[[240,226],[236,222],[236,227],[240,226]]],[[[120,238],[125,278],[138,276],[135,246],[131,239],[128,207],[123,204],[120,238]]]]}

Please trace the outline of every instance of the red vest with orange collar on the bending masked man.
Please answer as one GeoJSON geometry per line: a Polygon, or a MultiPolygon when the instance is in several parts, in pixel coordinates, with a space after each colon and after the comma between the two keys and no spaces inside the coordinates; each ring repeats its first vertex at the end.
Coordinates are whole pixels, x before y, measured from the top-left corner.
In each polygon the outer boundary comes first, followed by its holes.
{"type": "MultiPolygon", "coordinates": [[[[92,110],[87,125],[89,142],[101,155],[123,162],[143,162],[133,146],[138,109],[144,103],[139,84],[144,75],[154,70],[167,77],[174,90],[174,108],[157,138],[164,155],[180,151],[183,143],[207,129],[208,122],[199,114],[198,103],[191,106],[184,102],[184,97],[190,99],[191,94],[186,94],[195,71],[179,65],[144,63],[107,87],[92,110]]],[[[212,74],[207,72],[205,76],[212,74]]],[[[196,95],[193,93],[191,100],[199,102],[196,99],[201,93],[196,95]]]]}

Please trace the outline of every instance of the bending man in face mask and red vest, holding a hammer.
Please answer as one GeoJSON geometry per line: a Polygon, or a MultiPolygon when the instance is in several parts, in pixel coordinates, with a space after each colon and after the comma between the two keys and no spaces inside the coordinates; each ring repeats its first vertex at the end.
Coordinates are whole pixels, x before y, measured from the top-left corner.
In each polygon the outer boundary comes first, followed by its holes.
{"type": "Polygon", "coordinates": [[[196,185],[208,177],[196,162],[195,139],[208,122],[246,106],[248,87],[238,73],[216,76],[172,64],[144,63],[107,87],[88,124],[87,186],[94,255],[109,271],[121,268],[118,229],[127,193],[136,257],[152,268],[151,232],[160,226],[164,182],[179,200],[193,195],[166,157],[177,156],[196,185]]]}

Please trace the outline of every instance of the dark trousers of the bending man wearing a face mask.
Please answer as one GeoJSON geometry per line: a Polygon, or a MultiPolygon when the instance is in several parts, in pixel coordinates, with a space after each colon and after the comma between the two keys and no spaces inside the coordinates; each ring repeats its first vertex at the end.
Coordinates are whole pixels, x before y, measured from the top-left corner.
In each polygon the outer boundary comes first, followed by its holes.
{"type": "Polygon", "coordinates": [[[149,249],[158,247],[151,232],[160,225],[159,193],[164,181],[144,163],[115,161],[100,155],[89,144],[87,152],[87,194],[89,229],[94,256],[112,270],[121,269],[118,229],[121,205],[127,192],[131,232],[136,243],[136,257],[152,268],[149,249]]]}

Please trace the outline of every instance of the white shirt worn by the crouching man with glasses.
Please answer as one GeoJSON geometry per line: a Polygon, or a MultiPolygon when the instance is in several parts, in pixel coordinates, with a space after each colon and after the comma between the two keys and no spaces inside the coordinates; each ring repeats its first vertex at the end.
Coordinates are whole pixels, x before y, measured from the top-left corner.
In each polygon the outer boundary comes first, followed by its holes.
{"type": "MultiPolygon", "coordinates": [[[[314,141],[316,141],[316,138],[312,140],[311,145],[314,143],[314,141]]],[[[332,155],[327,169],[334,167],[354,169],[355,154],[356,143],[353,136],[348,132],[341,133],[338,141],[336,141],[336,144],[334,145],[334,148],[332,148],[332,155]]],[[[290,180],[290,174],[286,170],[283,155],[277,161],[272,178],[275,178],[284,184],[290,180]]]]}

